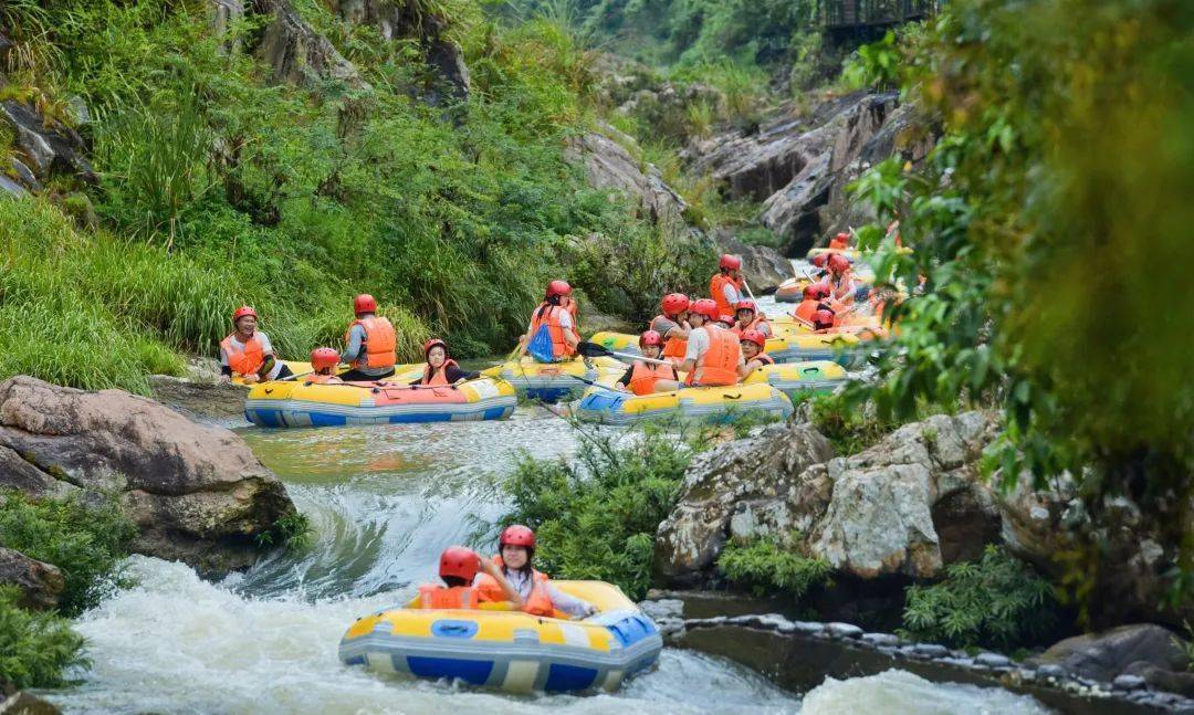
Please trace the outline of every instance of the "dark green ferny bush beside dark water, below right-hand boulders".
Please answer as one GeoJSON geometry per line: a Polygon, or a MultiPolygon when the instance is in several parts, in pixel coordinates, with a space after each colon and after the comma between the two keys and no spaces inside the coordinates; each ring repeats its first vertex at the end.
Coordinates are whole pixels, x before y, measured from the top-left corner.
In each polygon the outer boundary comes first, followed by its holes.
{"type": "Polygon", "coordinates": [[[1057,620],[1053,586],[1004,548],[954,563],[931,586],[909,586],[904,627],[918,639],[1013,649],[1030,645],[1057,620]]]}

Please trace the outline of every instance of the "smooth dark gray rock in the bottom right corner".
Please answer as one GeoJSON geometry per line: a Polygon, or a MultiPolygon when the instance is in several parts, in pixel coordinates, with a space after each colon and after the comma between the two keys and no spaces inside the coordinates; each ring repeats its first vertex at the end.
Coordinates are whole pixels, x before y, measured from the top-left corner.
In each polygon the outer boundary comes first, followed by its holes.
{"type": "Polygon", "coordinates": [[[1053,643],[1033,662],[1059,665],[1067,671],[1110,682],[1130,665],[1151,665],[1167,671],[1184,671],[1188,660],[1173,631],[1151,623],[1120,625],[1102,633],[1073,636],[1053,643]]]}

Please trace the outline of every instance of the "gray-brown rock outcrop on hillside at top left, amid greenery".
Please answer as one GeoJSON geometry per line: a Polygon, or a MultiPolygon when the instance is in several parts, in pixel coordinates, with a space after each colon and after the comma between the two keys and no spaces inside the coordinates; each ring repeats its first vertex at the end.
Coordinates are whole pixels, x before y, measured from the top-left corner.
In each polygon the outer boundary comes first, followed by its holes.
{"type": "Polygon", "coordinates": [[[357,68],[287,0],[253,0],[253,8],[258,14],[272,16],[257,53],[272,68],[275,82],[314,86],[336,80],[353,88],[369,86],[357,68]]]}

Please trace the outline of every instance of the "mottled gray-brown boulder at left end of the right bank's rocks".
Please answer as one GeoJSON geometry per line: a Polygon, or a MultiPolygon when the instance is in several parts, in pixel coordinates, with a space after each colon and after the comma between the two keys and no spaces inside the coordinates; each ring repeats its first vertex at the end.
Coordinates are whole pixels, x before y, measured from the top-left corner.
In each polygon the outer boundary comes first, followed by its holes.
{"type": "Polygon", "coordinates": [[[773,425],[757,437],[698,455],[685,471],[676,507],[659,525],[656,574],[673,585],[703,580],[730,536],[732,517],[752,504],[776,507],[750,512],[769,530],[811,526],[793,518],[786,504],[829,498],[824,475],[806,469],[832,454],[829,440],[812,427],[773,425]]]}

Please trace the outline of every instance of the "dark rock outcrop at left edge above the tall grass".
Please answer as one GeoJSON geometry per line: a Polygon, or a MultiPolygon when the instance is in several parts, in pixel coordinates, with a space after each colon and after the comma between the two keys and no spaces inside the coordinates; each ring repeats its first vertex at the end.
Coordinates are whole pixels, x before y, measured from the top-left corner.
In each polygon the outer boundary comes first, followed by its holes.
{"type": "MultiPolygon", "coordinates": [[[[88,183],[98,180],[84,156],[86,147],[82,137],[69,127],[47,119],[32,105],[16,99],[0,101],[0,122],[7,122],[12,128],[21,165],[35,174],[37,181],[44,181],[54,174],[74,175],[88,183]]],[[[18,177],[23,174],[19,169],[16,171],[18,177]]],[[[37,190],[39,185],[26,187],[37,190]]]]}

